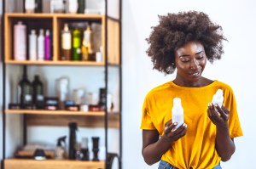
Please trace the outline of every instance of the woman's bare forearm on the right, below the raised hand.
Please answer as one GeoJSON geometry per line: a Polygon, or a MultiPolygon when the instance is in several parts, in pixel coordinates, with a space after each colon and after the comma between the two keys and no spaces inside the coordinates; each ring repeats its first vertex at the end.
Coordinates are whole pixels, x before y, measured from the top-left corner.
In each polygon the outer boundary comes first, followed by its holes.
{"type": "Polygon", "coordinates": [[[235,152],[236,146],[230,138],[228,124],[224,127],[217,127],[216,149],[221,157],[221,161],[229,161],[231,155],[235,152]]]}

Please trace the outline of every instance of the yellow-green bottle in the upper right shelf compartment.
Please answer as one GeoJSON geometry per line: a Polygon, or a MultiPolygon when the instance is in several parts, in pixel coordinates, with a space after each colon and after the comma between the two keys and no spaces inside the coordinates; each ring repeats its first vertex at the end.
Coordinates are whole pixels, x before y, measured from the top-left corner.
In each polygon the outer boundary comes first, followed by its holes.
{"type": "Polygon", "coordinates": [[[81,31],[76,27],[73,32],[73,60],[81,60],[81,31]]]}

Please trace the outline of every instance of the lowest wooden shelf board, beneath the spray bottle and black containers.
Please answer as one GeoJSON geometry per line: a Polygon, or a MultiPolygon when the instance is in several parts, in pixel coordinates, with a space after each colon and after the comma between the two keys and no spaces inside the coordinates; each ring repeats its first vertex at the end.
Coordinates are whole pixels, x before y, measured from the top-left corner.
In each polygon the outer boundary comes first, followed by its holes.
{"type": "Polygon", "coordinates": [[[104,167],[105,161],[35,161],[25,159],[4,160],[4,169],[99,169],[104,167]]]}

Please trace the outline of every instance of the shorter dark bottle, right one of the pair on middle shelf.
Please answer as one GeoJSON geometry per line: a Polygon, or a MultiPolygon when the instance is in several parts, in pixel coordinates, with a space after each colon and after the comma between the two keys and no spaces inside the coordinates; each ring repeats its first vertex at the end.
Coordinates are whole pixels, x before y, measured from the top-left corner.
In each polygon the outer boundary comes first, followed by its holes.
{"type": "Polygon", "coordinates": [[[38,75],[32,82],[32,100],[37,109],[44,109],[44,85],[38,75]]]}

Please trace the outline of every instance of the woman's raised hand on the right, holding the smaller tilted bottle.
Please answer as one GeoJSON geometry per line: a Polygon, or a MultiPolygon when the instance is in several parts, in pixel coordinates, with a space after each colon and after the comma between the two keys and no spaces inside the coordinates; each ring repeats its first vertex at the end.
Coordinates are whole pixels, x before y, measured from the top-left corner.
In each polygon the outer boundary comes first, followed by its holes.
{"type": "Polygon", "coordinates": [[[218,104],[208,104],[207,110],[208,117],[211,119],[213,124],[217,127],[226,127],[227,121],[229,120],[230,110],[224,107],[220,108],[218,104]]]}

